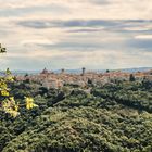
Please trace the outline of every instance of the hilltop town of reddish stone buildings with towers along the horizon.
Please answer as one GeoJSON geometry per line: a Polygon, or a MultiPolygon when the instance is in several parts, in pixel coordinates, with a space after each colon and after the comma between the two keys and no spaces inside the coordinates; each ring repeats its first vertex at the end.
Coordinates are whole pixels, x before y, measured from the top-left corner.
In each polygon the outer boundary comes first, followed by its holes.
{"type": "MultiPolygon", "coordinates": [[[[143,78],[152,80],[152,71],[134,73],[134,76],[137,80],[143,78]]],[[[68,74],[65,69],[61,69],[60,74],[54,74],[45,68],[40,74],[16,76],[17,80],[28,79],[30,81],[39,83],[47,88],[62,88],[65,84],[85,87],[89,81],[93,85],[103,85],[110,83],[112,79],[129,80],[129,77],[130,73],[125,72],[86,73],[85,67],[83,67],[80,74],[68,74]]]]}

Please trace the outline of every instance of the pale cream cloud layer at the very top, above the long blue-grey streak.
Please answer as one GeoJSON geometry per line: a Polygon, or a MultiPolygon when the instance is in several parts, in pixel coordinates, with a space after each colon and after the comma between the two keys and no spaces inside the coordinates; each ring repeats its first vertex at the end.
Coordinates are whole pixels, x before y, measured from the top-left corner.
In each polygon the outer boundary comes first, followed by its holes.
{"type": "Polygon", "coordinates": [[[150,0],[37,0],[37,2],[7,0],[5,2],[0,1],[0,5],[1,10],[5,10],[5,14],[11,16],[12,11],[9,13],[9,10],[13,10],[14,16],[24,13],[26,18],[152,20],[150,15],[152,1],[150,0]],[[30,16],[28,12],[30,12],[30,16]],[[53,15],[52,12],[54,12],[53,15]]]}

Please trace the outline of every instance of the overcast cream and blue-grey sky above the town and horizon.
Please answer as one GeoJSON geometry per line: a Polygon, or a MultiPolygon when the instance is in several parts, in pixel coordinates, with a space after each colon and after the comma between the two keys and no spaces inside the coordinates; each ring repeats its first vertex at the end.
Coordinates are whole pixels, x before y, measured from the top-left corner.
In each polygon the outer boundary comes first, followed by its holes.
{"type": "Polygon", "coordinates": [[[0,0],[4,69],[152,67],[152,0],[0,0]]]}

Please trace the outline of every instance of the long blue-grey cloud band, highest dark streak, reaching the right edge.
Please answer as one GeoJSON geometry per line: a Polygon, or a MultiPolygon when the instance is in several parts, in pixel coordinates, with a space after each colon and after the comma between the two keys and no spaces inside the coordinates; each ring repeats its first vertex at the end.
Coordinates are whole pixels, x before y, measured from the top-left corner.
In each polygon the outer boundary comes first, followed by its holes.
{"type": "Polygon", "coordinates": [[[89,33],[89,31],[121,31],[121,33],[142,33],[152,31],[152,21],[144,20],[34,20],[20,21],[16,23],[23,27],[29,28],[77,28],[71,29],[71,33],[89,33]],[[78,28],[79,27],[79,28],[78,28]]]}

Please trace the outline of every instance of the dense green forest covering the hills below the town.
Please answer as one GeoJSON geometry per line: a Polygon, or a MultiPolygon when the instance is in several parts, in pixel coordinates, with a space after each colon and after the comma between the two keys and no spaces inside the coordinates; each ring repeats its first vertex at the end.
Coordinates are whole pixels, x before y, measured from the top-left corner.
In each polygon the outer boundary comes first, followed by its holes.
{"type": "Polygon", "coordinates": [[[112,81],[47,89],[15,81],[11,94],[24,104],[31,96],[38,107],[20,109],[15,118],[0,110],[2,152],[151,152],[152,83],[112,81]]]}

